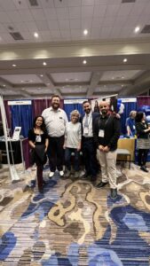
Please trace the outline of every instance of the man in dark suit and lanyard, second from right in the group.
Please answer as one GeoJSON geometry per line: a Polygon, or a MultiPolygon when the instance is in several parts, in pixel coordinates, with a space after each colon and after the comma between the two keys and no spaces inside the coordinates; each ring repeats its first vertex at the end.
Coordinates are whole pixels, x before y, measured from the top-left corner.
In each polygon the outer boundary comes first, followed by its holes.
{"type": "Polygon", "coordinates": [[[83,146],[83,164],[85,167],[85,175],[82,179],[88,179],[90,177],[91,182],[95,183],[97,174],[99,172],[99,164],[96,157],[97,147],[93,138],[93,124],[95,118],[99,113],[91,112],[91,104],[88,100],[83,101],[84,116],[81,118],[82,122],[82,146],[83,146]]]}

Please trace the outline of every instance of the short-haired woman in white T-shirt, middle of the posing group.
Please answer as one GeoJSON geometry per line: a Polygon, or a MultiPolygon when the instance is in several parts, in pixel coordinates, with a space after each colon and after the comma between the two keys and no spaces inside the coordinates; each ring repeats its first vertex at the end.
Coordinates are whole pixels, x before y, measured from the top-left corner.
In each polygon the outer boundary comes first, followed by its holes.
{"type": "Polygon", "coordinates": [[[80,170],[80,151],[81,151],[81,140],[82,140],[82,129],[81,123],[79,122],[80,113],[74,110],[70,113],[71,121],[67,122],[65,131],[65,165],[67,167],[65,176],[70,176],[71,172],[71,153],[75,153],[75,175],[74,177],[79,177],[80,170]]]}

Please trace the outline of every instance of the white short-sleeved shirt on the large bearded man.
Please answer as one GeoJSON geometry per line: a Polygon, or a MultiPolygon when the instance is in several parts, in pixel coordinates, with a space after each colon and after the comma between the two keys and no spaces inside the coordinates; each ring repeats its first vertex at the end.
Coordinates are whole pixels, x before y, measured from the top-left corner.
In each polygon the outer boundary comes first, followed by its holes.
{"type": "Polygon", "coordinates": [[[42,113],[48,135],[50,137],[61,137],[65,134],[67,114],[64,110],[54,110],[52,107],[43,110],[42,113]]]}

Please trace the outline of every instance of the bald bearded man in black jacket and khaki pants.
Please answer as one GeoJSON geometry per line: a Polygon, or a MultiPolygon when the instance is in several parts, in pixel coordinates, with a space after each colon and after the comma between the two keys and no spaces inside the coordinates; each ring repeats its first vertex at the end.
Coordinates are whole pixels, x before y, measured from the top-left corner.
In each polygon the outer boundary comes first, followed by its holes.
{"type": "Polygon", "coordinates": [[[117,197],[116,149],[120,137],[120,121],[109,113],[107,101],[100,102],[99,110],[101,115],[96,118],[93,129],[102,176],[102,181],[97,184],[97,188],[99,189],[109,183],[111,198],[115,199],[117,197]]]}

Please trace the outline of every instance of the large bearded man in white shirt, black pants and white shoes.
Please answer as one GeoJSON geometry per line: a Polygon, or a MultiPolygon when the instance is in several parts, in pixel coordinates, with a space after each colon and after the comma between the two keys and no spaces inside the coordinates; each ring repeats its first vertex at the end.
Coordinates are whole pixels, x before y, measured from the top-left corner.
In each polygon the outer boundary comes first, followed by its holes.
{"type": "Polygon", "coordinates": [[[44,109],[42,116],[49,135],[49,147],[47,154],[50,163],[50,175],[52,177],[56,168],[59,170],[59,175],[63,176],[63,160],[64,160],[64,134],[67,124],[67,114],[59,108],[59,95],[53,95],[51,98],[51,107],[44,109]]]}

